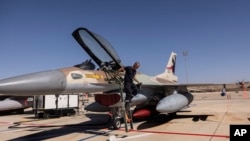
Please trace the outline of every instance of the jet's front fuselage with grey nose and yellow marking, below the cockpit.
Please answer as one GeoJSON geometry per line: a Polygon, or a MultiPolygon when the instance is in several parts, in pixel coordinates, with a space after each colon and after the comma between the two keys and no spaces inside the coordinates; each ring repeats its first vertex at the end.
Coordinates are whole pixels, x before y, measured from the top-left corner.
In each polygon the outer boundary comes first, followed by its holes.
{"type": "Polygon", "coordinates": [[[69,67],[0,80],[0,93],[46,95],[101,92],[119,88],[118,84],[109,83],[108,79],[104,71],[69,67]]]}

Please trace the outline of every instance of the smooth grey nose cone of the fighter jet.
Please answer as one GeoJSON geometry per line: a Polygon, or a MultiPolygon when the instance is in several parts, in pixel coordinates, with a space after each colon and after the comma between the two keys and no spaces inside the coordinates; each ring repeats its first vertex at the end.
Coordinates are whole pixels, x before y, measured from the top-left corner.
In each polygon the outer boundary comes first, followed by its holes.
{"type": "Polygon", "coordinates": [[[31,73],[0,80],[0,93],[9,95],[54,94],[65,88],[66,79],[59,70],[31,73]]]}

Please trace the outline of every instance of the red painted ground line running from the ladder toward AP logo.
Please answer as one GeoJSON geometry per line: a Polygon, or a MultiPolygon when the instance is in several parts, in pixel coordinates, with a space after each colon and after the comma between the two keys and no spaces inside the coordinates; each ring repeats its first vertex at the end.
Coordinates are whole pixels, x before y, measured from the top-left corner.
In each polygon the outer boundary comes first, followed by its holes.
{"type": "MultiPolygon", "coordinates": [[[[119,129],[125,131],[124,129],[119,129]]],[[[155,134],[175,134],[175,135],[187,135],[187,136],[206,136],[206,137],[218,137],[218,138],[229,138],[227,135],[213,135],[213,134],[195,134],[195,133],[181,133],[181,132],[160,132],[160,131],[146,131],[146,130],[133,130],[132,132],[141,132],[141,133],[155,133],[155,134]]]]}

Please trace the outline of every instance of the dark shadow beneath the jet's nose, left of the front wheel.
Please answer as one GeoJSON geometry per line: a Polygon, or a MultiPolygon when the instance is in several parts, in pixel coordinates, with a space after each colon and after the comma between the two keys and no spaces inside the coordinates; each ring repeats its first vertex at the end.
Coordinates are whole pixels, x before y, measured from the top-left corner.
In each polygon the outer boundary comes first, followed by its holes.
{"type": "MultiPolygon", "coordinates": [[[[48,140],[56,137],[64,136],[71,133],[89,133],[93,134],[92,137],[97,135],[109,136],[109,132],[100,131],[100,129],[110,127],[110,116],[107,114],[86,114],[87,117],[90,117],[89,121],[76,123],[76,124],[68,124],[68,125],[48,125],[48,126],[33,126],[31,124],[27,124],[25,122],[24,125],[22,123],[16,123],[14,126],[10,126],[10,129],[24,129],[26,131],[40,131],[34,134],[25,135],[22,137],[17,137],[11,139],[9,141],[20,141],[20,140],[48,140]]],[[[111,132],[111,131],[110,131],[111,132]]],[[[91,138],[91,137],[88,137],[91,138]]],[[[83,139],[85,140],[85,139],[83,139]]]]}

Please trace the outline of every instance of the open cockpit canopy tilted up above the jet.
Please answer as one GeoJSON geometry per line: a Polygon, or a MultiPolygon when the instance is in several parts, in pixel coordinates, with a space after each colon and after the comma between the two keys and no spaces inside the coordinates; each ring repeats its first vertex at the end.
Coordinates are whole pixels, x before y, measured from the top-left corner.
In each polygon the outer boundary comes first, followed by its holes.
{"type": "Polygon", "coordinates": [[[112,45],[102,36],[86,28],[76,29],[72,35],[100,68],[117,70],[122,66],[112,45]]]}

